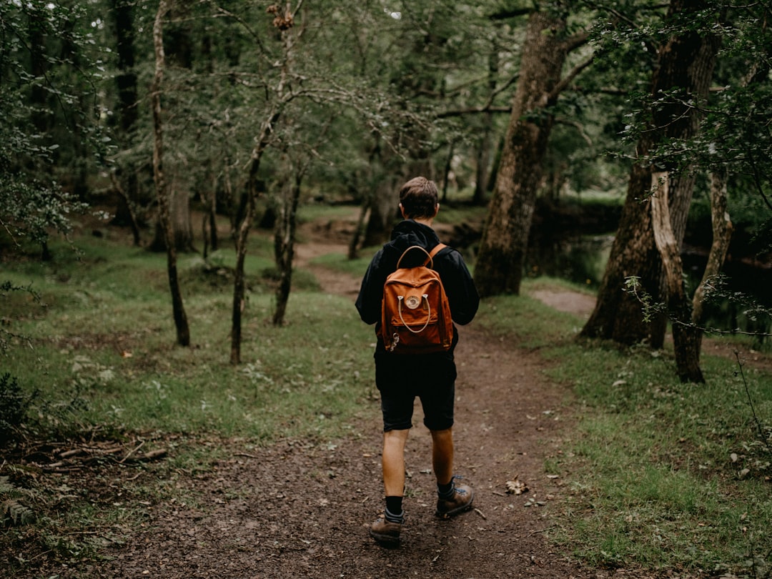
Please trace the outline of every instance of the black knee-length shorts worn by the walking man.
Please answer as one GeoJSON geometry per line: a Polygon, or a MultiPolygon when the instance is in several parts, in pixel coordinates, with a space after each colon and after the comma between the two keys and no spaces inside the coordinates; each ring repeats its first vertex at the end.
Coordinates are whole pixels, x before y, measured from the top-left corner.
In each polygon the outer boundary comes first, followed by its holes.
{"type": "Polygon", "coordinates": [[[411,428],[416,396],[426,428],[446,430],[453,425],[456,372],[452,352],[411,356],[388,354],[379,348],[374,357],[384,432],[411,428]]]}

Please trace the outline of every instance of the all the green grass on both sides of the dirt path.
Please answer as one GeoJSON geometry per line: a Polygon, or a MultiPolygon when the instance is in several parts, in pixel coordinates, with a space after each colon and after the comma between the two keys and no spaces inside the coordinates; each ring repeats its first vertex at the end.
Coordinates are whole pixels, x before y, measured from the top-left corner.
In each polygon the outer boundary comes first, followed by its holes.
{"type": "MultiPolygon", "coordinates": [[[[374,386],[359,373],[371,364],[372,329],[349,298],[318,293],[313,276],[301,271],[293,278],[286,325],[269,323],[266,235],[253,235],[248,254],[239,367],[228,364],[232,252],[207,262],[181,256],[193,346],[179,348],[165,256],[110,239],[83,239],[79,247],[77,254],[53,245],[52,262],[5,267],[5,279],[31,285],[39,296],[8,292],[2,298],[3,328],[26,337],[2,359],[2,371],[29,395],[36,392],[26,432],[51,442],[134,438],[146,449],[164,445],[172,452],[147,467],[155,476],[120,489],[125,500],[99,510],[98,496],[44,488],[29,469],[5,466],[17,494],[47,513],[34,531],[4,531],[3,540],[19,552],[32,537],[39,552],[64,560],[94,557],[100,545],[90,542],[88,530],[110,528],[120,540],[122,529],[144,520],[141,500],[195,503],[190,489],[174,488],[175,473],[208,469],[223,437],[239,437],[247,449],[280,438],[325,442],[377,417],[374,386]]],[[[363,250],[353,262],[343,256],[317,262],[361,276],[373,251],[363,250]]],[[[680,384],[667,350],[577,341],[580,319],[527,295],[545,287],[577,289],[527,279],[523,296],[482,303],[476,323],[513,347],[539,350],[550,378],[571,392],[575,430],[545,465],[567,484],[564,498],[548,507],[550,539],[594,567],[769,577],[772,456],[749,398],[769,435],[770,374],[747,365],[741,375],[735,362],[705,355],[708,383],[680,384]]]]}

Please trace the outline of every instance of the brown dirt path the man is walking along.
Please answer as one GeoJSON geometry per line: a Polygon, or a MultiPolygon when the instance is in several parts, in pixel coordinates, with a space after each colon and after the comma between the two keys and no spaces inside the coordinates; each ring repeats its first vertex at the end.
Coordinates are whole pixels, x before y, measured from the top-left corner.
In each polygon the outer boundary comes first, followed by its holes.
{"type": "MultiPolygon", "coordinates": [[[[324,291],[353,302],[357,279],[309,265],[330,251],[342,252],[344,245],[304,243],[299,265],[314,270],[324,291]]],[[[571,292],[537,297],[580,315],[593,306],[571,292]]],[[[430,437],[417,405],[398,549],[380,547],[367,534],[383,506],[381,424],[375,421],[357,425],[335,444],[283,440],[255,450],[227,441],[226,458],[215,469],[179,472],[174,480],[195,489],[201,497],[195,504],[148,500],[140,530],[103,550],[105,560],[39,570],[45,575],[36,577],[645,577],[635,570],[590,569],[550,546],[550,511],[571,490],[565,473],[545,472],[544,464],[564,452],[564,440],[573,435],[571,393],[544,378],[538,354],[490,337],[474,323],[460,333],[455,462],[463,482],[476,489],[468,513],[452,520],[434,516],[430,437]],[[527,492],[508,493],[514,481],[527,492]]],[[[378,416],[378,401],[371,404],[378,416]]],[[[120,487],[120,479],[108,483],[120,487]]]]}

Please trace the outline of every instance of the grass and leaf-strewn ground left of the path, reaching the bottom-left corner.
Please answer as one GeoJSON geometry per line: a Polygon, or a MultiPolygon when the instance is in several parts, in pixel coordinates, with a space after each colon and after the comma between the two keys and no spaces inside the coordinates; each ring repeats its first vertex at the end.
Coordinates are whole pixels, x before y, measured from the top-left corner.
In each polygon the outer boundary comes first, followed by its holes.
{"type": "MultiPolygon", "coordinates": [[[[16,428],[25,437],[20,444],[40,446],[44,454],[93,444],[128,449],[141,440],[145,450],[168,455],[135,466],[136,482],[120,488],[115,481],[123,477],[109,474],[110,460],[88,469],[90,482],[4,463],[3,513],[8,501],[32,506],[23,522],[28,510],[19,506],[18,526],[0,537],[3,553],[19,554],[9,572],[42,560],[99,557],[107,543],[126,540],[147,520],[148,501],[200,501],[208,508],[195,490],[174,481],[180,473],[211,472],[224,438],[256,452],[283,438],[323,444],[377,420],[367,371],[372,328],[350,299],[319,293],[303,269],[293,273],[285,324],[274,327],[273,245],[265,232],[253,233],[247,255],[238,366],[229,364],[232,250],[208,259],[178,256],[191,331],[191,347],[183,348],[174,345],[165,254],[90,237],[78,240],[78,252],[56,243],[51,249],[49,262],[20,259],[3,272],[13,286],[33,290],[8,290],[0,298],[11,347],[2,357],[0,374],[11,378],[2,382],[0,398],[15,405],[0,416],[4,437],[16,428]],[[148,476],[140,476],[145,470],[148,476]]],[[[16,452],[13,445],[5,450],[8,458],[16,452]]]]}

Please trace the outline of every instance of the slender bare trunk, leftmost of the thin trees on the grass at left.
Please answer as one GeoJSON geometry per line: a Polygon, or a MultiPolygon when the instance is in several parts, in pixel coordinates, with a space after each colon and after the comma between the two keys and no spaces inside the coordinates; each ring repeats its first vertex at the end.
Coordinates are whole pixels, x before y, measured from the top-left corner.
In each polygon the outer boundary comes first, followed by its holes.
{"type": "Polygon", "coordinates": [[[180,346],[190,345],[190,330],[185,306],[177,276],[177,252],[172,239],[171,218],[169,215],[169,198],[166,180],[164,178],[164,131],[161,120],[161,81],[164,76],[164,29],[163,19],[168,12],[167,0],[161,0],[153,25],[153,47],[155,51],[155,73],[151,86],[151,102],[153,104],[153,178],[158,198],[161,227],[166,240],[167,271],[169,289],[171,290],[171,306],[174,313],[174,326],[177,328],[177,343],[180,346]]]}

